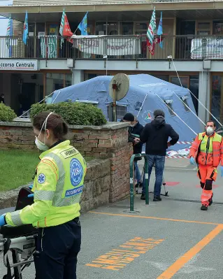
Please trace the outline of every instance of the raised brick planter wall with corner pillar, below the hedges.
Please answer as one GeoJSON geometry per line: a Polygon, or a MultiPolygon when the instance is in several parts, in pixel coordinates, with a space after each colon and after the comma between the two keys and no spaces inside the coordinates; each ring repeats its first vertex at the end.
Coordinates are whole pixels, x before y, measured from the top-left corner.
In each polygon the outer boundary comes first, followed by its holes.
{"type": "MultiPolygon", "coordinates": [[[[123,122],[110,122],[101,127],[69,126],[68,138],[71,145],[82,155],[110,160],[110,202],[129,194],[132,145],[127,143],[127,125],[123,122]]],[[[31,123],[0,122],[0,148],[36,148],[31,123]]]]}

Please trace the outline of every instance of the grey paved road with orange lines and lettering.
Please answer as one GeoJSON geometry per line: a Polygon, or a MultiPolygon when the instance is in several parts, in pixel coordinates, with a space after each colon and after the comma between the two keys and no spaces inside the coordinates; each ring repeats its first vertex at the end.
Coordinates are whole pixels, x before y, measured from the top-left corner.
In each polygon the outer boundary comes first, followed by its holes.
{"type": "MultiPolygon", "coordinates": [[[[222,279],[223,178],[215,183],[214,203],[200,210],[201,188],[188,161],[166,163],[170,196],[149,206],[136,195],[81,216],[82,250],[78,279],[222,279]]],[[[152,188],[154,178],[150,180],[152,188]]],[[[0,259],[1,262],[1,259],[0,259]]],[[[0,278],[3,276],[0,263],[0,278]]],[[[34,279],[34,266],[24,271],[34,279]]]]}

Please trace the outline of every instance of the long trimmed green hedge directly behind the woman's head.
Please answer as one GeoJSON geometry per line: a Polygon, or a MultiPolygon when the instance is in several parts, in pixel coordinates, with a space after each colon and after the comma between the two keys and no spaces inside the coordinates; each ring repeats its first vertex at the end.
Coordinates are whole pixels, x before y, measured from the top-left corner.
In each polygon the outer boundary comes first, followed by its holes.
{"type": "Polygon", "coordinates": [[[42,111],[54,111],[61,115],[64,120],[71,125],[95,125],[100,126],[106,124],[102,110],[96,106],[85,103],[35,103],[31,106],[31,119],[42,111]]]}

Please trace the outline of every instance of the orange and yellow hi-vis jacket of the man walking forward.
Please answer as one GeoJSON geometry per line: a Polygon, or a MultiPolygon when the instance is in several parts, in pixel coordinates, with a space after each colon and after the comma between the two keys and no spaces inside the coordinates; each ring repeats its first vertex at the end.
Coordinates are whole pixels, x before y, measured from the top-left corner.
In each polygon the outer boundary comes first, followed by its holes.
{"type": "Polygon", "coordinates": [[[212,136],[198,134],[190,148],[189,157],[195,157],[198,164],[217,167],[221,162],[223,166],[222,136],[216,133],[212,136]]]}

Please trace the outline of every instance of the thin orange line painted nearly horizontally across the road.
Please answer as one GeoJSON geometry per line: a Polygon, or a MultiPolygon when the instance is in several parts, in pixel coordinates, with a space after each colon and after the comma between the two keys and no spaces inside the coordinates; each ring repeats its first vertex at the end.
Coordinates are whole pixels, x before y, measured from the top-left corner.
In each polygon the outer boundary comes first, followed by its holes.
{"type": "Polygon", "coordinates": [[[164,221],[172,221],[172,222],[184,222],[184,223],[195,223],[195,224],[213,224],[215,226],[219,225],[219,223],[212,223],[212,222],[199,222],[199,221],[189,221],[189,220],[178,220],[178,219],[160,218],[160,217],[152,217],[152,216],[104,213],[104,212],[97,212],[97,211],[88,211],[88,213],[101,214],[101,215],[110,215],[110,216],[120,216],[120,217],[134,217],[134,218],[142,218],[142,219],[164,220],[164,221]]]}

